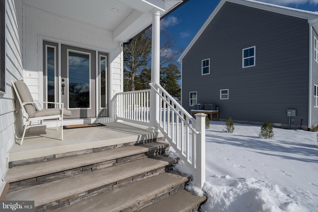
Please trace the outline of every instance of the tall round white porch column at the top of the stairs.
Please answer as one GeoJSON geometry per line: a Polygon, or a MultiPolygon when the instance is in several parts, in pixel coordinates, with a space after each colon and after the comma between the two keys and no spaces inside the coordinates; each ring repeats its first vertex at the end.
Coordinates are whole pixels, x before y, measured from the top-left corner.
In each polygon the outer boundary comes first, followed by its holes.
{"type": "MultiPolygon", "coordinates": [[[[160,10],[153,10],[153,32],[151,52],[151,82],[153,85],[160,83],[160,10]]],[[[159,96],[152,89],[150,92],[150,128],[151,132],[158,132],[159,96]]]]}

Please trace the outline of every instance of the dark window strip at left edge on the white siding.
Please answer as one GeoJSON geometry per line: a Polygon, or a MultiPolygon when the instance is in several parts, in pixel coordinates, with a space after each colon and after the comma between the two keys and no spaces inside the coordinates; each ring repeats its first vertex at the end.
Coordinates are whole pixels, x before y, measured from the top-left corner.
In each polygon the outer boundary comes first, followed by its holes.
{"type": "Polygon", "coordinates": [[[5,92],[5,0],[0,0],[0,93],[5,92]]]}

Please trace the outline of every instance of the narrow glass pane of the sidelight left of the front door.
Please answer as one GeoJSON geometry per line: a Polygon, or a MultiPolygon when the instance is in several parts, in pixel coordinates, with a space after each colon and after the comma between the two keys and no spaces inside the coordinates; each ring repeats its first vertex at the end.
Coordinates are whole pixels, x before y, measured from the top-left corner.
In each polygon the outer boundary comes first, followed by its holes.
{"type": "MultiPolygon", "coordinates": [[[[55,102],[55,48],[47,47],[47,101],[55,102]]],[[[48,104],[48,108],[54,108],[54,104],[48,104]]]]}

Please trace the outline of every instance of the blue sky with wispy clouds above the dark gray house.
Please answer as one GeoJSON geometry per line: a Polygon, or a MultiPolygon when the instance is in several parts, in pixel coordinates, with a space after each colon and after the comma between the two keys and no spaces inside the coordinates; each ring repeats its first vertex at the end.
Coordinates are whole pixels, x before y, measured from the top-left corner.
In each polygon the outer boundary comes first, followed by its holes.
{"type": "MultiPolygon", "coordinates": [[[[259,0],[262,2],[318,12],[318,0],[259,0]]],[[[161,22],[183,50],[202,27],[220,0],[189,0],[161,22]]]]}

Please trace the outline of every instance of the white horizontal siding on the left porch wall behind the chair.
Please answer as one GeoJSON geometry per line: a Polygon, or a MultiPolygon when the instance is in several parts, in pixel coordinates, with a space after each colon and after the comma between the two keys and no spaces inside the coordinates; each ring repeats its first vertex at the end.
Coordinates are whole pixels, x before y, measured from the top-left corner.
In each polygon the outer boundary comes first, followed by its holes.
{"type": "MultiPolygon", "coordinates": [[[[2,2],[3,3],[3,2],[2,2]]],[[[0,176],[7,171],[7,153],[22,130],[22,114],[13,99],[11,80],[23,79],[22,71],[22,1],[4,0],[5,11],[5,93],[0,92],[0,176]],[[17,106],[17,107],[15,107],[17,106]],[[18,110],[17,112],[15,110],[18,110]]],[[[2,10],[1,10],[2,11],[2,10]]],[[[1,14],[3,15],[3,14],[1,14]]],[[[4,63],[4,61],[3,61],[4,63]]],[[[3,72],[2,72],[3,73],[3,72]]],[[[4,75],[3,75],[4,76],[4,75]]],[[[0,194],[5,182],[0,181],[0,194]]]]}

